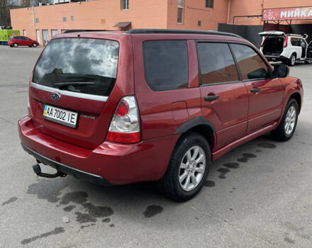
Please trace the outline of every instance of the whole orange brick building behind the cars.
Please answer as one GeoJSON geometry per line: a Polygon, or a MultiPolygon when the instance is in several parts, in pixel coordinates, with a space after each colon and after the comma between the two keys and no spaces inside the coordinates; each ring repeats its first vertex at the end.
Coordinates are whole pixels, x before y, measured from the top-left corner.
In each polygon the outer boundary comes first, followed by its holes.
{"type": "MultiPolygon", "coordinates": [[[[182,28],[218,23],[260,25],[262,10],[312,6],[311,0],[95,0],[11,10],[11,26],[40,44],[67,29],[182,28]],[[253,17],[252,17],[253,16],[253,17]]],[[[312,21],[294,21],[312,23],[312,21]]]]}

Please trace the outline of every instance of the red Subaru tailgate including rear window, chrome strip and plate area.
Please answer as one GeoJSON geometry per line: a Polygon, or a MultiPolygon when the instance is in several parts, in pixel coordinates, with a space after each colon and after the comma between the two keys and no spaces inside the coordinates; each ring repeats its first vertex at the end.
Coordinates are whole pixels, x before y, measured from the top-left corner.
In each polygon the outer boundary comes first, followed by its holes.
{"type": "Polygon", "coordinates": [[[45,47],[30,82],[30,113],[40,132],[92,149],[104,142],[120,97],[133,92],[133,72],[127,82],[118,77],[126,66],[120,54],[128,50],[127,59],[132,46],[127,35],[116,35],[118,40],[99,39],[95,34],[75,36],[51,40],[45,47]],[[121,87],[125,83],[128,87],[121,87]],[[45,106],[77,114],[77,123],[66,125],[56,119],[56,112],[55,119],[47,119],[45,106]]]}

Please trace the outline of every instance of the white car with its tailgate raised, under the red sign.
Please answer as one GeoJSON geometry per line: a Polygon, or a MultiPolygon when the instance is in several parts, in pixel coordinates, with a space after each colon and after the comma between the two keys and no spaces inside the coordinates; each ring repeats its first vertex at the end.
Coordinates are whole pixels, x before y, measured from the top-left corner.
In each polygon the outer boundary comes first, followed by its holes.
{"type": "Polygon", "coordinates": [[[269,61],[282,61],[289,65],[296,62],[312,64],[312,42],[308,43],[308,35],[285,34],[281,31],[265,31],[262,36],[260,51],[269,61]]]}

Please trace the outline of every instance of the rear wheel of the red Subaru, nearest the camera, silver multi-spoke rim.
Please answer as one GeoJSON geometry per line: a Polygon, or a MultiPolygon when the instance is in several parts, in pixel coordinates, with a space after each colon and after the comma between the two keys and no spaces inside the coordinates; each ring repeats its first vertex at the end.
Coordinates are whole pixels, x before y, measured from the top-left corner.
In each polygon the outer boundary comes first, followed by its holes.
{"type": "Polygon", "coordinates": [[[160,191],[173,201],[182,202],[193,198],[204,186],[210,164],[211,153],[207,140],[198,133],[182,135],[174,147],[165,176],[159,181],[160,191]],[[195,155],[197,148],[198,153],[195,155]],[[196,163],[196,160],[199,162],[196,163]]]}

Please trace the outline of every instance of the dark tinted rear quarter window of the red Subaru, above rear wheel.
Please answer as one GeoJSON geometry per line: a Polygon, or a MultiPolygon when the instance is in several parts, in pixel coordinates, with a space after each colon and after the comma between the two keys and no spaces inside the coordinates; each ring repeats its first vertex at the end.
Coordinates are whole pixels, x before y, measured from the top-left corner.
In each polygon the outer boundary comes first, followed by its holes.
{"type": "Polygon", "coordinates": [[[189,56],[186,40],[143,43],[145,79],[153,91],[187,88],[189,56]]]}

